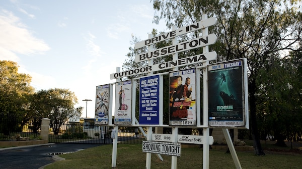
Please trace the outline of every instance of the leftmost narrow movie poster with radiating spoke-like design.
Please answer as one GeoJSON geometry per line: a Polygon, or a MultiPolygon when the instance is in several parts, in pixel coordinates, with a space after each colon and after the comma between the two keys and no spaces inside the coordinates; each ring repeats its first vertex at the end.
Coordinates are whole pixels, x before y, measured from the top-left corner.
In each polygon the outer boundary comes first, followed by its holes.
{"type": "Polygon", "coordinates": [[[95,124],[108,124],[109,84],[97,86],[95,124]]]}

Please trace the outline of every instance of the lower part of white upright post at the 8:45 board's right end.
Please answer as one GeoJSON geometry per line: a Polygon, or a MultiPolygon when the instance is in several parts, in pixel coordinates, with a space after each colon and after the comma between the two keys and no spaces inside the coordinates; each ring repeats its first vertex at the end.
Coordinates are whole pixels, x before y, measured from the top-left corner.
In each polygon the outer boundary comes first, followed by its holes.
{"type": "Polygon", "coordinates": [[[210,129],[204,128],[203,129],[203,136],[204,136],[204,144],[203,144],[203,162],[202,168],[208,169],[209,168],[209,155],[210,155],[210,129]]]}

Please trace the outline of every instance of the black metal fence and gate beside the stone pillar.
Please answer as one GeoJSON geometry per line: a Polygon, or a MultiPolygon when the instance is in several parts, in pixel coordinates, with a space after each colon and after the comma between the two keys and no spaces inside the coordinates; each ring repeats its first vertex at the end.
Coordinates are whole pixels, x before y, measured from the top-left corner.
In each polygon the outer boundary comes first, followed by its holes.
{"type": "MultiPolygon", "coordinates": [[[[32,130],[33,124],[0,122],[0,141],[28,141],[40,140],[40,129],[36,132],[32,130]]],[[[112,144],[112,126],[85,125],[80,122],[67,122],[60,126],[59,132],[54,133],[52,127],[49,128],[50,143],[92,143],[92,144],[112,144]]],[[[142,132],[137,127],[119,127],[118,143],[120,144],[140,144],[144,140],[142,132]]]]}

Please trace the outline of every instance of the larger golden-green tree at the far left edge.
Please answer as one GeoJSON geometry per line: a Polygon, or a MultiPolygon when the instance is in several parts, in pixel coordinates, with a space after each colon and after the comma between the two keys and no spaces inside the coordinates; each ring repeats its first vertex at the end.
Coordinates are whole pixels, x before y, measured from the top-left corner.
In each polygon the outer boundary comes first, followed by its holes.
{"type": "Polygon", "coordinates": [[[18,73],[12,61],[0,61],[0,132],[20,131],[29,119],[23,118],[29,109],[29,97],[34,92],[29,84],[31,76],[18,73]],[[22,121],[23,120],[23,121],[22,121]]]}

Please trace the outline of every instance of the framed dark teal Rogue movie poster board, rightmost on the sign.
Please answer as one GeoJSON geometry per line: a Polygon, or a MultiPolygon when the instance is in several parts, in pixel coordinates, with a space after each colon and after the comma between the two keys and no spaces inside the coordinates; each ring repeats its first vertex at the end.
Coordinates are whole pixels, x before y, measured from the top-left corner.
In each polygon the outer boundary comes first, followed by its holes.
{"type": "Polygon", "coordinates": [[[248,128],[246,58],[208,65],[209,126],[248,128]]]}

